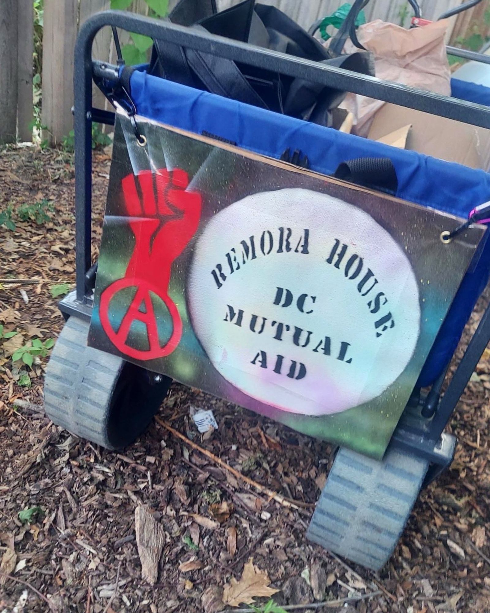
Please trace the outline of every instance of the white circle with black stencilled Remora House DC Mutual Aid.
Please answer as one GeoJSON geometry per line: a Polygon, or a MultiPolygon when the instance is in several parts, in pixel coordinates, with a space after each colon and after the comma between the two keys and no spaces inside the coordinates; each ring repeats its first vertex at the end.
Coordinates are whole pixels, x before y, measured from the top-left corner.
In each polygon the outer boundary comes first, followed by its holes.
{"type": "Polygon", "coordinates": [[[209,219],[187,293],[220,375],[293,413],[338,413],[378,397],[420,332],[403,249],[365,211],[307,189],[252,194],[209,219]]]}

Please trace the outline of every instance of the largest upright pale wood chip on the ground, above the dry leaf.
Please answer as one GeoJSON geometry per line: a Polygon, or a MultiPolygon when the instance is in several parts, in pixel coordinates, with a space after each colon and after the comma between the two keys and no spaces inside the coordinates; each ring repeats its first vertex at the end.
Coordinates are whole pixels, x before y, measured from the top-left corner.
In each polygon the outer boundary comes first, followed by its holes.
{"type": "Polygon", "coordinates": [[[134,516],[141,577],[154,585],[158,578],[158,563],[165,543],[165,530],[144,506],[138,505],[134,516]]]}

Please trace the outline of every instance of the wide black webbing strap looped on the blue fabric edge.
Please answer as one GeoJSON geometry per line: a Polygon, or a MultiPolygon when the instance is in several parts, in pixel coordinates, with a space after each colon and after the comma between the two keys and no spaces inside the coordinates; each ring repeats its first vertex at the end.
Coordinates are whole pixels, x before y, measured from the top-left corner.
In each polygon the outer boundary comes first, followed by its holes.
{"type": "Polygon", "coordinates": [[[398,178],[390,158],[356,158],[342,162],[333,175],[366,188],[396,194],[398,178]]]}

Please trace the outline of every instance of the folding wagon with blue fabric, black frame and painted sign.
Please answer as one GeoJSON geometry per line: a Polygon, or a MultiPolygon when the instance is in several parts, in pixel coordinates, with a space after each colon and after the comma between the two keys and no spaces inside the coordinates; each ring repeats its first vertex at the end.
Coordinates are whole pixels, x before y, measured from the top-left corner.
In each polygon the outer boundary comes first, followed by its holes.
{"type": "Polygon", "coordinates": [[[48,416],[123,447],[176,379],[337,444],[307,537],[382,568],[453,459],[443,430],[490,339],[487,308],[442,394],[488,280],[490,175],[92,63],[104,26],[483,128],[490,110],[129,13],[78,35],[77,285],[59,303],[48,416]],[[92,78],[116,115],[92,108],[92,78]],[[115,123],[96,264],[92,121],[115,123]]]}

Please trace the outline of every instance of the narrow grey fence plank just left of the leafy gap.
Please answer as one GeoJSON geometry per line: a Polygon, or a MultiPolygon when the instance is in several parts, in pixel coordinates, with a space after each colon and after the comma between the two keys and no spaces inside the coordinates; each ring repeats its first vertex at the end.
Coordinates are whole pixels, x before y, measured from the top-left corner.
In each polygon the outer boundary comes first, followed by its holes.
{"type": "Polygon", "coordinates": [[[17,38],[17,130],[21,141],[32,141],[32,53],[34,52],[34,10],[32,0],[18,0],[17,38]]]}

